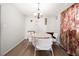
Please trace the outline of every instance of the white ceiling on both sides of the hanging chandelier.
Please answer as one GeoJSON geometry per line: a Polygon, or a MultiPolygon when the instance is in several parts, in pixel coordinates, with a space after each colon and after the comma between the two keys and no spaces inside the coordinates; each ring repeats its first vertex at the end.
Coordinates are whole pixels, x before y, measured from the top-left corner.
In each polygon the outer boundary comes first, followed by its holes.
{"type": "MultiPolygon", "coordinates": [[[[24,15],[32,16],[37,12],[37,3],[14,4],[24,15]]],[[[72,3],[40,3],[40,11],[44,16],[57,16],[61,10],[72,5],[72,3]]]]}

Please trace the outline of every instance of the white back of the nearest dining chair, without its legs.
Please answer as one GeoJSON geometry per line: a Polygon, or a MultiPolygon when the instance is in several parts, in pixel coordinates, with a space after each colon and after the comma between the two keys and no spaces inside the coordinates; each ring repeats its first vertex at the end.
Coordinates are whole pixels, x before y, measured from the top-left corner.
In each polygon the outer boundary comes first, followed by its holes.
{"type": "Polygon", "coordinates": [[[52,38],[37,39],[36,48],[39,50],[49,50],[52,46],[52,38]]]}

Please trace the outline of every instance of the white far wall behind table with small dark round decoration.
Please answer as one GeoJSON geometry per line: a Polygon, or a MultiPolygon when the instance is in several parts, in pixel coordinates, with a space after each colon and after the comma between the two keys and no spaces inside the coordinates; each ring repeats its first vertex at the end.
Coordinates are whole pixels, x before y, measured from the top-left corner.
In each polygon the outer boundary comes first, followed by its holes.
{"type": "Polygon", "coordinates": [[[36,19],[35,17],[26,17],[25,23],[26,23],[26,33],[25,38],[27,38],[27,31],[36,31],[36,32],[45,32],[46,26],[44,25],[44,18],[41,18],[40,20],[36,19]],[[30,20],[33,20],[33,22],[30,22],[30,20]]]}

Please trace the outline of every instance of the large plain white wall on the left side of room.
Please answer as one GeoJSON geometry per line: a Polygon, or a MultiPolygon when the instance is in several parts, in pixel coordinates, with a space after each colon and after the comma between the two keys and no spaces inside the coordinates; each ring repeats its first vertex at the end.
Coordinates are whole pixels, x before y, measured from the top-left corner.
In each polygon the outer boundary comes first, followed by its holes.
{"type": "Polygon", "coordinates": [[[19,44],[24,35],[24,16],[12,4],[1,4],[1,54],[19,44]]]}

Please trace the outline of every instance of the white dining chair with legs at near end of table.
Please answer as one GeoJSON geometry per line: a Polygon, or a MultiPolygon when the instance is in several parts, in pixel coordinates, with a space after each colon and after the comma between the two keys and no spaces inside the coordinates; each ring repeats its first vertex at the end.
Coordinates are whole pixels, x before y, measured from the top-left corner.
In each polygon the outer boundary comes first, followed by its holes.
{"type": "Polygon", "coordinates": [[[49,50],[53,54],[53,49],[52,49],[52,38],[45,38],[45,39],[35,39],[35,51],[34,55],[36,55],[37,50],[49,50]]]}

